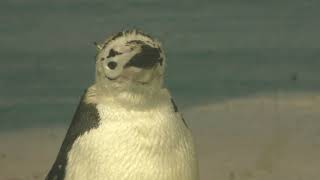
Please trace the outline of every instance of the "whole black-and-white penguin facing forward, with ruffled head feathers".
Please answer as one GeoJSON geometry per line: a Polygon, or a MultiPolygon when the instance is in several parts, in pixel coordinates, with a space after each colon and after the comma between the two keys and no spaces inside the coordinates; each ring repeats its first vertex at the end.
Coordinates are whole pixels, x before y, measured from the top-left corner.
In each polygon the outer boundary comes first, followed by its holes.
{"type": "Polygon", "coordinates": [[[95,82],[46,180],[198,180],[192,133],[164,87],[160,42],[126,30],[96,46],[95,82]]]}

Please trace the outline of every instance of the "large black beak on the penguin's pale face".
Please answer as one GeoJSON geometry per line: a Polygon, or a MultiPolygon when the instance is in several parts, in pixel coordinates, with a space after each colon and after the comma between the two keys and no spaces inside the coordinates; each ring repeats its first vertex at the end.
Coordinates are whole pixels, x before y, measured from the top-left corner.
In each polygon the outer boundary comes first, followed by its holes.
{"type": "Polygon", "coordinates": [[[151,69],[158,63],[162,65],[160,53],[160,49],[142,44],[140,52],[135,54],[124,67],[151,69]]]}

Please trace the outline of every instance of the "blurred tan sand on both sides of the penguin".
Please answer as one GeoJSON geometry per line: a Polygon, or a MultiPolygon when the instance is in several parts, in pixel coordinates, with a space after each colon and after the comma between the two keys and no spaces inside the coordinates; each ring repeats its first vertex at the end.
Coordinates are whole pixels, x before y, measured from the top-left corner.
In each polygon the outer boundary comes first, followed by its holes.
{"type": "MultiPolygon", "coordinates": [[[[257,95],[184,109],[202,180],[320,178],[320,96],[257,95]]],[[[0,133],[0,180],[43,179],[65,127],[0,133]]]]}

